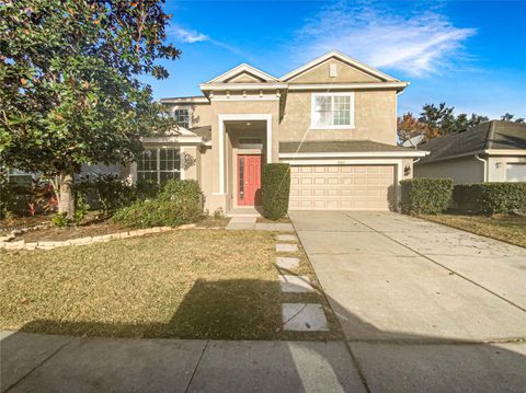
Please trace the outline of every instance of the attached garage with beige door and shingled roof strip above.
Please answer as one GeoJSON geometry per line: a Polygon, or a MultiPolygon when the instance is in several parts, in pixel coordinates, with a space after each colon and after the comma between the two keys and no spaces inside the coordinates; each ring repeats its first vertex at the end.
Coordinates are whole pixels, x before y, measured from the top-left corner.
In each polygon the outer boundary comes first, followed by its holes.
{"type": "Polygon", "coordinates": [[[425,151],[370,140],[279,142],[290,210],[397,210],[398,182],[425,151]]]}

